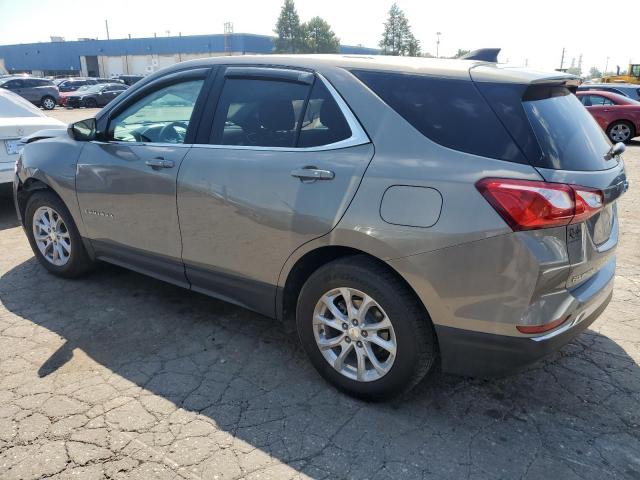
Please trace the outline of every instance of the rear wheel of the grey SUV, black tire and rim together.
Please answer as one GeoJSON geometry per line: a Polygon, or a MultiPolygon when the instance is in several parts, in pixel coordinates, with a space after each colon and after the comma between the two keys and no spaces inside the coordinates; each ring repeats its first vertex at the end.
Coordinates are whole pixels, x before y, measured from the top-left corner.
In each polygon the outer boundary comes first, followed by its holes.
{"type": "Polygon", "coordinates": [[[365,256],[314,272],[298,297],[296,323],[316,370],[365,400],[410,390],[437,357],[433,325],[415,294],[365,256]]]}

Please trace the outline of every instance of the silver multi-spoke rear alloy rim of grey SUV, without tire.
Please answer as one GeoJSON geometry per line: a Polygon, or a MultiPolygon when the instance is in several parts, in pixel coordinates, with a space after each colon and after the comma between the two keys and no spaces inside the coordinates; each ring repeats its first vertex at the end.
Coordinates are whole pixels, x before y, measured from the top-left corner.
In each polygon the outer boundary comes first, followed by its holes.
{"type": "Polygon", "coordinates": [[[322,295],[313,313],[313,333],[325,360],[352,380],[378,380],[396,358],[391,320],[378,302],[353,288],[322,295]]]}

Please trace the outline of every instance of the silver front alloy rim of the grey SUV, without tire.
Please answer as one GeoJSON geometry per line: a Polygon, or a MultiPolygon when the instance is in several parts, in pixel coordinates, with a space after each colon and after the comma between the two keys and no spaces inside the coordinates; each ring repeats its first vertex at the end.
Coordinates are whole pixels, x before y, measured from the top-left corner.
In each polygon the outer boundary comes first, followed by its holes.
{"type": "Polygon", "coordinates": [[[42,256],[61,267],[71,257],[71,235],[62,217],[51,207],[40,207],[33,214],[33,238],[42,256]]]}

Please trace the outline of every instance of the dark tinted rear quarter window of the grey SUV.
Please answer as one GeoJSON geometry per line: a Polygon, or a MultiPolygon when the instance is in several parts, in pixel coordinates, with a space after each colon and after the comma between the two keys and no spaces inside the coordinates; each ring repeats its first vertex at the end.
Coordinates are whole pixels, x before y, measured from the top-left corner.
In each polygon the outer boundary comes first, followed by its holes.
{"type": "Polygon", "coordinates": [[[352,73],[430,140],[466,153],[527,163],[471,80],[367,70],[352,73]]]}

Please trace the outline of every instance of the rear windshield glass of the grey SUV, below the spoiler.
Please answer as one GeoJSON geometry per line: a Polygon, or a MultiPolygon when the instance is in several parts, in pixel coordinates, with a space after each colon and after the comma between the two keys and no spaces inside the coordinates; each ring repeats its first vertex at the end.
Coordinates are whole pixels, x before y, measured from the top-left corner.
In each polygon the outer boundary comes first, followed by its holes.
{"type": "Polygon", "coordinates": [[[580,100],[564,87],[527,90],[522,105],[545,166],[561,170],[604,170],[611,145],[580,100]]]}

